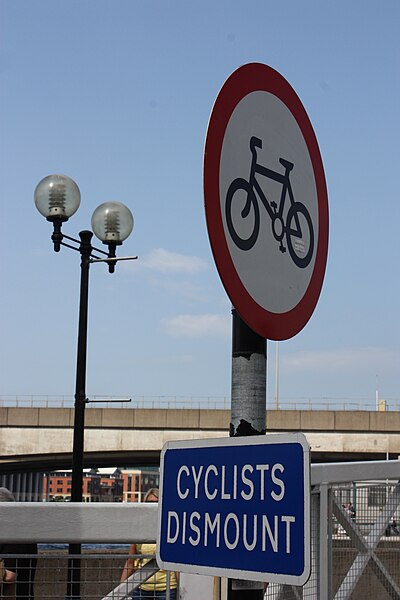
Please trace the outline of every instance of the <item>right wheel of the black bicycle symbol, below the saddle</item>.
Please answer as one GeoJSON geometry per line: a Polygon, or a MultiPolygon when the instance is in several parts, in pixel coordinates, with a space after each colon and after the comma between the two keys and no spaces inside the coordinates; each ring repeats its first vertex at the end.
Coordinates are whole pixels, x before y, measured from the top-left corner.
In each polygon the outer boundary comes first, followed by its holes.
{"type": "Polygon", "coordinates": [[[300,269],[305,269],[310,264],[314,252],[314,230],[310,213],[301,202],[295,202],[288,210],[286,242],[293,262],[300,269]]]}

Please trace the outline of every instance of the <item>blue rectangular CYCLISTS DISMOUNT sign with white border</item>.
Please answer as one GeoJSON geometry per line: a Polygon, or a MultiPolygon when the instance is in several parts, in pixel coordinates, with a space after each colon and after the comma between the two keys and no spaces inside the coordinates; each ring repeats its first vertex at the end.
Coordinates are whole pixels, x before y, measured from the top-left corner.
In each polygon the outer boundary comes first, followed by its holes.
{"type": "Polygon", "coordinates": [[[309,473],[301,433],[167,442],[160,568],[303,585],[310,575],[309,473]]]}

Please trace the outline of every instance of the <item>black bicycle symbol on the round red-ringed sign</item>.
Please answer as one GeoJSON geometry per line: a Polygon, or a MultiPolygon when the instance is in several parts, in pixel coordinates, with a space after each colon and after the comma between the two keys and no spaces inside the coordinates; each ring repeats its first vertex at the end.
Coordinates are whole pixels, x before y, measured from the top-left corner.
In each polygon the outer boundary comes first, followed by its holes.
{"type": "MultiPolygon", "coordinates": [[[[310,214],[304,204],[296,202],[292,186],[290,183],[289,174],[293,169],[294,164],[280,158],[279,162],[285,168],[285,172],[277,173],[267,167],[257,164],[257,148],[262,148],[262,140],[257,137],[250,139],[250,151],[252,153],[250,177],[249,180],[238,177],[234,179],[229,186],[226,195],[225,216],[228,225],[228,230],[232,240],[241,250],[250,250],[258,239],[260,231],[260,208],[257,201],[257,196],[264,204],[267,213],[272,221],[272,233],[274,238],[279,242],[279,250],[286,252],[286,246],[283,243],[283,238],[286,235],[286,244],[289,249],[289,254],[293,262],[304,269],[310,263],[314,251],[314,230],[310,214]],[[269,202],[266,198],[260,184],[256,179],[256,174],[264,175],[269,179],[273,179],[282,185],[281,199],[279,207],[275,201],[269,202]],[[232,219],[232,202],[233,197],[239,190],[245,192],[244,206],[240,211],[242,219],[246,219],[251,209],[254,211],[254,226],[250,235],[243,237],[237,232],[232,219]],[[257,195],[256,195],[257,194],[257,195]],[[289,195],[290,207],[287,211],[286,221],[283,215],[285,208],[286,197],[289,195]],[[300,225],[302,217],[302,225],[306,227],[303,235],[303,229],[300,225]],[[306,235],[308,233],[308,235],[306,235]]],[[[249,222],[249,221],[248,221],[249,222]]]]}

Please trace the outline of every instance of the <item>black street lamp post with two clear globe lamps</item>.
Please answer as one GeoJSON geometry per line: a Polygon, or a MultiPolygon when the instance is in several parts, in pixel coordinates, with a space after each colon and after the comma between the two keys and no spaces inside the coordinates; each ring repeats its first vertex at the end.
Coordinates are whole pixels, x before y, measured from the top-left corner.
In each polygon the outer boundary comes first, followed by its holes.
{"type": "MultiPolygon", "coordinates": [[[[80,191],[76,183],[65,175],[50,175],[42,179],[35,190],[35,204],[39,212],[53,223],[53,241],[55,252],[61,246],[76,250],[81,255],[81,282],[79,300],[78,345],[76,359],[76,385],[74,404],[74,434],[72,446],[72,483],[71,501],[82,502],[84,428],[86,398],[86,354],[87,323],[89,297],[89,267],[93,262],[106,262],[113,273],[118,260],[136,257],[117,258],[116,247],[130,235],[133,229],[132,213],[120,202],[105,202],[96,208],[92,216],[92,228],[95,235],[108,246],[108,252],[92,246],[92,231],[81,231],[79,240],[61,232],[62,224],[68,221],[79,208],[80,191]],[[65,241],[65,240],[68,240],[65,241]],[[74,245],[72,245],[72,242],[74,245]],[[101,254],[105,258],[98,256],[101,254]]],[[[66,599],[79,599],[80,596],[80,544],[69,545],[68,588],[66,599]],[[78,558],[73,558],[78,556],[78,558]]]]}

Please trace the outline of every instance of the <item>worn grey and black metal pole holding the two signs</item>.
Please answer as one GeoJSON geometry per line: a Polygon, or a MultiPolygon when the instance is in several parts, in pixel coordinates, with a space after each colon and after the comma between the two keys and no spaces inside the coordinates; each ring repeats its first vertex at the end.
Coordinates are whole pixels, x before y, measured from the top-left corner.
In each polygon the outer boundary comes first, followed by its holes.
{"type": "MultiPolygon", "coordinates": [[[[230,437],[265,434],[266,348],[233,308],[230,437]]],[[[262,600],[263,594],[263,583],[228,580],[228,600],[262,600]]]]}

